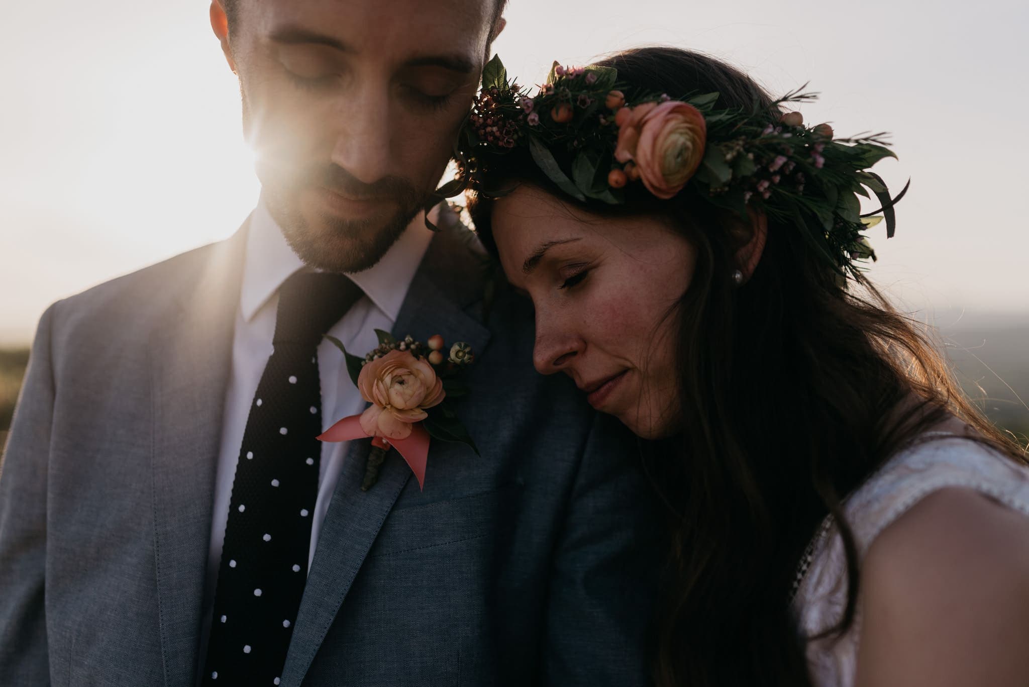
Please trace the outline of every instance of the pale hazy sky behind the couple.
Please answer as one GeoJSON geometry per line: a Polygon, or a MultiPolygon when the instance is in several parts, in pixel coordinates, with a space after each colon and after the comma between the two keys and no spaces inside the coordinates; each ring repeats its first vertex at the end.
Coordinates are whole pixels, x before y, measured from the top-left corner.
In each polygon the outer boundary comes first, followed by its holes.
{"type": "MultiPolygon", "coordinates": [[[[28,342],[52,301],[224,238],[252,208],[207,7],[5,3],[0,346],[28,342]]],[[[494,48],[522,82],[649,43],[716,55],[774,94],[810,81],[806,121],[892,132],[900,160],[876,170],[894,190],[912,178],[896,238],[871,235],[877,282],[912,310],[1029,319],[1029,3],[510,0],[506,16],[494,48]]]]}

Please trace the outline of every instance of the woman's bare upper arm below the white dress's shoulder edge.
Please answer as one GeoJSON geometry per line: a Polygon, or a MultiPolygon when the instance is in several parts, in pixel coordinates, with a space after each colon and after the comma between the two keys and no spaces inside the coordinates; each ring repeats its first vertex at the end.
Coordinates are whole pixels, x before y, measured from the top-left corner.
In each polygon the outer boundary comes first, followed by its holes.
{"type": "Polygon", "coordinates": [[[862,684],[1024,684],[1029,518],[970,488],[937,489],[862,561],[862,684]]]}

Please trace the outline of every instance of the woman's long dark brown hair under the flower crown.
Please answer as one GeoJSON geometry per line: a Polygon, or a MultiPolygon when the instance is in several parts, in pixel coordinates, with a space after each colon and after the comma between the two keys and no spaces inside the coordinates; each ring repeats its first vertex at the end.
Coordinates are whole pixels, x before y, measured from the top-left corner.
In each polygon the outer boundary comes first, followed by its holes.
{"type": "MultiPolygon", "coordinates": [[[[642,92],[720,94],[718,107],[770,112],[769,96],[707,56],[639,48],[603,61],[642,92]]],[[[489,185],[529,182],[562,197],[531,160],[509,156],[489,185]]],[[[574,201],[565,198],[569,203],[574,201]]],[[[473,197],[488,246],[491,203],[473,197]]],[[[682,432],[651,451],[648,470],[671,535],[654,658],[659,685],[809,685],[788,608],[800,558],[826,515],[839,525],[853,622],[858,556],[843,499],[886,458],[954,415],[972,436],[1022,460],[972,406],[926,331],[863,278],[843,287],[804,228],[771,221],[743,286],[737,234],[688,194],[643,195],[595,212],[671,215],[695,246],[678,319],[682,432]]]]}

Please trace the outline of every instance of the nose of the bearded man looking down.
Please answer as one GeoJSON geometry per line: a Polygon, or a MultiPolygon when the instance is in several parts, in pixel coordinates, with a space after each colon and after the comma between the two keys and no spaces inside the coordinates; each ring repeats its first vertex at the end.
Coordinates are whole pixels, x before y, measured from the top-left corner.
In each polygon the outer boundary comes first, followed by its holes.
{"type": "Polygon", "coordinates": [[[347,95],[332,162],[357,180],[375,183],[390,171],[391,130],[385,87],[364,85],[347,95]]]}

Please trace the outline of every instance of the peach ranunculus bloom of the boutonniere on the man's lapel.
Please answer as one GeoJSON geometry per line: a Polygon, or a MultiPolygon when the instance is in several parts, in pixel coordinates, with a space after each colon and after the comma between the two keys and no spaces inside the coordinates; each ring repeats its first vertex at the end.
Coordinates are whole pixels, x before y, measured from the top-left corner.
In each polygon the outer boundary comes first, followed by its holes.
{"type": "Polygon", "coordinates": [[[406,439],[412,424],[428,417],[425,409],[438,405],[446,396],[432,366],[401,350],[361,368],[357,388],[371,404],[361,414],[361,428],[369,437],[387,439],[406,439]]]}

